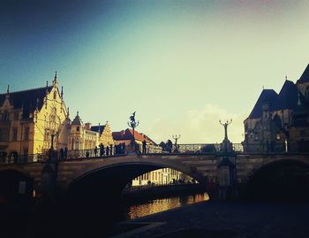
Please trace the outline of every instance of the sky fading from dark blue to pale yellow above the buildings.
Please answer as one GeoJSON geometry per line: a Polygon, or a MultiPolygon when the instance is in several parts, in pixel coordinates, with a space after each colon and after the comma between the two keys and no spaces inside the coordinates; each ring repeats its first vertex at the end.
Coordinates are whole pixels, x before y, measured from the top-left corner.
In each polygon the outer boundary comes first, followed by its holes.
{"type": "Polygon", "coordinates": [[[0,1],[0,93],[39,88],[57,71],[71,119],[109,121],[155,142],[231,142],[262,88],[309,64],[309,2],[0,1]]]}

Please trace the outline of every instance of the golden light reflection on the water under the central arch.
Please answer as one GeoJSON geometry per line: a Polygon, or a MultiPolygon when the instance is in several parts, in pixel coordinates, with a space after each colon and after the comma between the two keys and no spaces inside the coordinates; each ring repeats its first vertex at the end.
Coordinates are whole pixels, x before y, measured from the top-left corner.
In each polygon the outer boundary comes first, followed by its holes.
{"type": "Polygon", "coordinates": [[[168,198],[160,198],[150,200],[145,203],[131,205],[125,216],[126,219],[138,219],[150,214],[154,214],[160,211],[166,211],[173,208],[181,207],[192,203],[200,203],[202,201],[208,201],[209,196],[207,193],[189,195],[189,196],[175,196],[168,198]]]}

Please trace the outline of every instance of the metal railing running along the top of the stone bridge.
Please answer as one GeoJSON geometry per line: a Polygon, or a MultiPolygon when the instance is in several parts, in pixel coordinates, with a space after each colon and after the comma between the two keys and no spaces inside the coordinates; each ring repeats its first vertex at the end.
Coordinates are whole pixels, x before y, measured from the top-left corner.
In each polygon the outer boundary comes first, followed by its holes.
{"type": "MultiPolygon", "coordinates": [[[[109,153],[107,150],[69,150],[66,154],[61,153],[59,150],[55,151],[53,157],[58,160],[63,159],[82,159],[82,158],[92,158],[92,157],[110,157],[114,155],[124,155],[124,152],[134,150],[133,148],[127,147],[125,151],[116,150],[112,147],[109,153]]],[[[273,142],[273,143],[233,143],[232,150],[237,153],[258,153],[258,154],[274,154],[274,153],[285,153],[285,154],[295,154],[295,153],[309,153],[308,142],[273,142]]],[[[139,153],[143,150],[140,147],[139,153]]],[[[147,145],[146,154],[215,154],[224,152],[224,148],[221,143],[191,143],[191,144],[177,144],[172,145],[170,149],[162,148],[158,145],[147,145]]],[[[12,164],[12,163],[34,163],[34,162],[44,162],[48,160],[49,153],[39,153],[39,154],[11,154],[7,156],[0,154],[0,164],[12,164]]]]}

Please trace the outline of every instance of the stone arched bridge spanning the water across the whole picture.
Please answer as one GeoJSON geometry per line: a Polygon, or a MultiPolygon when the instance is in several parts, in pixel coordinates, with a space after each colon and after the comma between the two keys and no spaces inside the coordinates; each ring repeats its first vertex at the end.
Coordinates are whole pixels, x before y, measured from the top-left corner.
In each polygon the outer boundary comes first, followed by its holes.
{"type": "MultiPolygon", "coordinates": [[[[15,176],[19,177],[15,183],[27,178],[27,183],[31,183],[27,188],[34,187],[36,190],[65,193],[73,188],[76,194],[81,188],[104,188],[105,192],[113,190],[119,193],[133,178],[155,169],[170,167],[190,175],[205,186],[211,183],[226,187],[230,184],[246,185],[254,174],[264,168],[275,169],[283,165],[298,165],[305,168],[305,174],[308,175],[309,154],[131,153],[125,156],[78,158],[51,164],[4,164],[0,165],[0,185],[5,180],[11,180],[10,176],[15,176]],[[224,166],[229,168],[228,173],[222,170],[224,166]]],[[[277,175],[274,173],[274,176],[277,175]]],[[[16,189],[20,189],[19,186],[15,186],[16,189]]]]}

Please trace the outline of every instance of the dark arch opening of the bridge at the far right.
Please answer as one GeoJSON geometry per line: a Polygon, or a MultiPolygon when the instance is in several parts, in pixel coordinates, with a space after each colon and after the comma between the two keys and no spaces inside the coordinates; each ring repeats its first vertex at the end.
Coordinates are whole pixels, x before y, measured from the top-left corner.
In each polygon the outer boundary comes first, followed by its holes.
{"type": "Polygon", "coordinates": [[[301,158],[268,161],[249,173],[246,193],[252,199],[309,200],[309,162],[301,158]]]}

